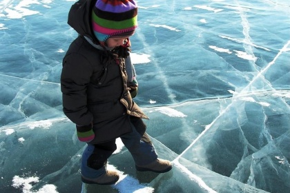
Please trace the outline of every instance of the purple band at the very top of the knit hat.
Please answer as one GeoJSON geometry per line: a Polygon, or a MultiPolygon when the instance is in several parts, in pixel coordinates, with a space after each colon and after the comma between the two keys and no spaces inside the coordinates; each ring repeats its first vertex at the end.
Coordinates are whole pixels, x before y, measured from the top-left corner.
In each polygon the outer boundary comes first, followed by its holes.
{"type": "Polygon", "coordinates": [[[100,1],[96,3],[97,8],[106,12],[126,12],[137,8],[134,1],[100,1]]]}

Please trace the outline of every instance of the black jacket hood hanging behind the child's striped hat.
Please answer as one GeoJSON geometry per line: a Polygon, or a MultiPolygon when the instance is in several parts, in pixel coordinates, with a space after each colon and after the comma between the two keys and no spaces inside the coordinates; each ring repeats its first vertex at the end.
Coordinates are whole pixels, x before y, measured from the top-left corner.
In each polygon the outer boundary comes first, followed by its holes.
{"type": "Polygon", "coordinates": [[[91,27],[91,13],[97,0],[79,0],[70,8],[68,12],[68,25],[74,28],[79,34],[88,37],[93,43],[99,41],[93,34],[91,27]]]}

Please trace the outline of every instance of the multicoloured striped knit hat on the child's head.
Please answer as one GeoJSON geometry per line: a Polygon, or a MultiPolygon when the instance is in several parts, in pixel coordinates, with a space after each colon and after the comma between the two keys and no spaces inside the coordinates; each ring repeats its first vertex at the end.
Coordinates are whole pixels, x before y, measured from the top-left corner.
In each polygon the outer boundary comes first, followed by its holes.
{"type": "Polygon", "coordinates": [[[134,0],[97,0],[92,12],[95,37],[103,43],[109,37],[129,37],[137,28],[134,0]]]}

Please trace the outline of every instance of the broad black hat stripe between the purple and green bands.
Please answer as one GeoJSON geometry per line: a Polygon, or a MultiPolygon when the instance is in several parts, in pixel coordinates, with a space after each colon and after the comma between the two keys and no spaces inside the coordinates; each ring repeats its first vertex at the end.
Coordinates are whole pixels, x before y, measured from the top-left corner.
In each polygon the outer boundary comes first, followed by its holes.
{"type": "Polygon", "coordinates": [[[122,13],[115,13],[115,12],[106,12],[99,10],[98,8],[94,7],[93,12],[97,17],[112,21],[122,21],[126,19],[131,19],[132,17],[135,17],[137,15],[137,8],[133,10],[128,10],[126,12],[122,13]]]}

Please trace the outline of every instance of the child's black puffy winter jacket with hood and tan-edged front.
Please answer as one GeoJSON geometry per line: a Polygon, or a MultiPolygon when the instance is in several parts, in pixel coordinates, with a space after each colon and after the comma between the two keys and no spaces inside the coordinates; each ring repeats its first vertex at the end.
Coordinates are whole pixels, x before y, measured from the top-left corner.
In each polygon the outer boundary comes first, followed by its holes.
{"type": "Polygon", "coordinates": [[[90,28],[95,1],[78,1],[68,24],[78,33],[68,48],[61,72],[64,113],[77,125],[93,123],[95,139],[102,143],[131,132],[129,116],[148,119],[133,102],[127,86],[124,58],[88,43],[98,43],[90,28]]]}

